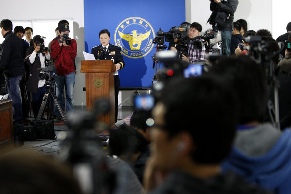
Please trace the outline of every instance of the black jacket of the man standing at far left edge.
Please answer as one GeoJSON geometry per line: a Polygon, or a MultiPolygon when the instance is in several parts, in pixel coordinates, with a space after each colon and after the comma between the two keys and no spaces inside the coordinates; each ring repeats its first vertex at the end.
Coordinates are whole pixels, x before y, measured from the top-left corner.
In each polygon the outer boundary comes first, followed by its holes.
{"type": "Polygon", "coordinates": [[[21,76],[25,73],[23,59],[23,43],[12,31],[7,32],[0,48],[0,73],[8,78],[21,76]]]}

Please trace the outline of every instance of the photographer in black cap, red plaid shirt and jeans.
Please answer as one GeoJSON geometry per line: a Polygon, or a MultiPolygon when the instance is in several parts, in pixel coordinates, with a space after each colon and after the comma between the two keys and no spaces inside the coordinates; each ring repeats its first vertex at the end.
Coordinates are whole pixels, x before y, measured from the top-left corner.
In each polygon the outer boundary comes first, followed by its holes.
{"type": "MultiPolygon", "coordinates": [[[[75,85],[75,67],[74,58],[77,56],[77,42],[69,38],[69,25],[61,24],[59,26],[60,38],[51,43],[51,56],[55,60],[56,66],[56,95],[60,104],[62,104],[62,95],[64,86],[66,90],[66,110],[70,115],[74,112],[73,88],[75,85]]],[[[61,114],[55,107],[55,121],[60,120],[61,114]]]]}

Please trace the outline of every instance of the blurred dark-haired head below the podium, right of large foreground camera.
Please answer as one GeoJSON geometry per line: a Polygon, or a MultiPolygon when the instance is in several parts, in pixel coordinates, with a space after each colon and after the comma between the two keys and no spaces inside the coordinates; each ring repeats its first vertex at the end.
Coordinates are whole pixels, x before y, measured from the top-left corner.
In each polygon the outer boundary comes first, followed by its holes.
{"type": "Polygon", "coordinates": [[[132,163],[144,151],[146,145],[146,138],[128,125],[121,125],[117,129],[110,130],[108,148],[111,156],[116,155],[132,163]]]}

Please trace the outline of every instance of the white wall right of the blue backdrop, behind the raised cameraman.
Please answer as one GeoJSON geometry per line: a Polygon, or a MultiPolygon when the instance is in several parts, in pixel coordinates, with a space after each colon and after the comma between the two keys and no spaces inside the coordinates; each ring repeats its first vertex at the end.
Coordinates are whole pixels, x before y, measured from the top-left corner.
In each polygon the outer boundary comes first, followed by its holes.
{"type": "MultiPolygon", "coordinates": [[[[211,28],[206,24],[211,11],[209,0],[186,0],[186,20],[198,22],[203,31],[211,28]]],[[[245,19],[248,30],[268,29],[273,38],[286,32],[286,25],[291,22],[290,13],[284,7],[290,7],[291,0],[239,0],[234,21],[245,19]]]]}

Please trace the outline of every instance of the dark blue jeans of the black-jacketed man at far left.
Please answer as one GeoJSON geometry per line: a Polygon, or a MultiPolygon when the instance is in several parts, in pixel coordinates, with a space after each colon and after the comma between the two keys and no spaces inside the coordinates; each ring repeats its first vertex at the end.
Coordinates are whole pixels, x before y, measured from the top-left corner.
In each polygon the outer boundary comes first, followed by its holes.
{"type": "Polygon", "coordinates": [[[14,108],[13,119],[15,122],[22,122],[22,104],[20,98],[19,83],[23,79],[24,75],[7,78],[6,77],[6,93],[9,94],[9,99],[13,100],[12,106],[14,108]]]}

